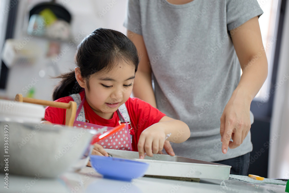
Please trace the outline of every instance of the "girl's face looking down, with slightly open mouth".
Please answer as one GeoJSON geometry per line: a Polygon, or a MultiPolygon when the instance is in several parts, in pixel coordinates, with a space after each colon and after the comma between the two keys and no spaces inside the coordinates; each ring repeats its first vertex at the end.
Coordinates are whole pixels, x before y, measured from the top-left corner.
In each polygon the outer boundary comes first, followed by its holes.
{"type": "Polygon", "coordinates": [[[125,61],[111,71],[99,71],[88,80],[89,91],[86,88],[86,100],[92,110],[102,118],[111,119],[113,113],[125,103],[132,91],[135,77],[135,67],[125,61]]]}

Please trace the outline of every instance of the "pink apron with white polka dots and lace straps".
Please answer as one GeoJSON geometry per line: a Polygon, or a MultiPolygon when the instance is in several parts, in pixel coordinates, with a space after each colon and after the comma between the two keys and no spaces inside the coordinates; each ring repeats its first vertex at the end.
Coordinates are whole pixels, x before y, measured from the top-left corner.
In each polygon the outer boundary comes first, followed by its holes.
{"type": "MultiPolygon", "coordinates": [[[[88,123],[88,120],[85,119],[85,113],[84,113],[84,107],[83,104],[85,102],[85,96],[83,100],[81,100],[80,95],[77,94],[72,94],[69,95],[70,97],[73,98],[73,100],[77,104],[77,111],[75,115],[75,120],[73,123],[74,128],[76,127],[81,127],[81,128],[86,128],[86,129],[96,129],[100,130],[101,128],[105,126],[101,125],[96,125],[92,123],[88,123]],[[87,121],[87,122],[86,122],[87,121]]],[[[127,112],[127,108],[125,104],[122,104],[118,109],[117,109],[117,114],[119,117],[119,124],[125,123],[126,126],[122,130],[113,133],[97,142],[97,144],[100,144],[103,146],[103,148],[107,149],[117,149],[117,150],[129,150],[132,151],[131,148],[131,135],[129,134],[130,129],[129,129],[129,124],[130,123],[130,118],[129,114],[127,112]]],[[[111,130],[113,127],[108,127],[107,129],[104,130],[106,132],[107,130],[111,130]]]]}

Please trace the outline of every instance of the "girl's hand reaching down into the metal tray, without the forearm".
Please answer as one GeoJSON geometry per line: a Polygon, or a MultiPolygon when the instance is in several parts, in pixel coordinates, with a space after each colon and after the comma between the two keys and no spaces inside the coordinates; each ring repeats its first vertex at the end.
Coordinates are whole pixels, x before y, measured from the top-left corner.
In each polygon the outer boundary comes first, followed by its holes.
{"type": "Polygon", "coordinates": [[[165,131],[162,127],[155,124],[146,128],[140,135],[138,140],[138,154],[140,159],[144,159],[144,153],[147,156],[153,157],[164,147],[165,131]]]}

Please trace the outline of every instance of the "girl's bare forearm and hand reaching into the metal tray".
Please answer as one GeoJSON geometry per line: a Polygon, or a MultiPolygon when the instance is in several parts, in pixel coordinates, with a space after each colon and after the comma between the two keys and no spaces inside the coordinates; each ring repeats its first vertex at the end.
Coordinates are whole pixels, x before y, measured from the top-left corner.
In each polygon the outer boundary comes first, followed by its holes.
{"type": "Polygon", "coordinates": [[[158,153],[164,147],[165,137],[168,141],[181,143],[190,137],[190,129],[187,124],[180,120],[175,120],[171,117],[164,116],[162,119],[148,128],[140,135],[138,140],[138,153],[140,159],[144,158],[144,153],[152,157],[153,153],[158,153]]]}

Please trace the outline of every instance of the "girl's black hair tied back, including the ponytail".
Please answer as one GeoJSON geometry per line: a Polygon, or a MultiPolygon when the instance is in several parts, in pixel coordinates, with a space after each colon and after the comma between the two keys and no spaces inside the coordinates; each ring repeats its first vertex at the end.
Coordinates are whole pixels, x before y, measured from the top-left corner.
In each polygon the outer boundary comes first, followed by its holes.
{"type": "MultiPolygon", "coordinates": [[[[139,63],[136,46],[123,33],[103,28],[98,28],[86,36],[78,45],[75,55],[81,77],[86,80],[98,71],[113,69],[121,60],[135,66],[136,72],[139,63]]],[[[74,70],[55,78],[62,80],[53,91],[53,100],[79,93],[82,89],[75,78],[74,70]]],[[[89,89],[88,84],[87,86],[89,89]]]]}

